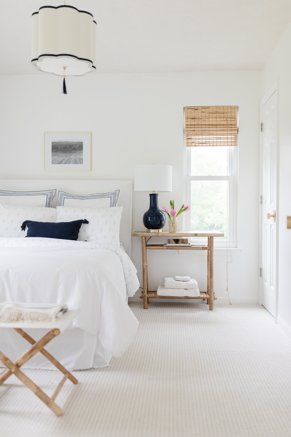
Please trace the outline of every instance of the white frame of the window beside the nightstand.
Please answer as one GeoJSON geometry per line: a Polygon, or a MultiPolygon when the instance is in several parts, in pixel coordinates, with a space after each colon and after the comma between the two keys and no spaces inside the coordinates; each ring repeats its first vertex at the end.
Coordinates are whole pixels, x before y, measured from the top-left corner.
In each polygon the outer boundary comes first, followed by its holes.
{"type": "MultiPolygon", "coordinates": [[[[184,109],[185,112],[185,109],[184,109]]],[[[185,122],[184,122],[185,126],[185,122]]],[[[185,203],[191,205],[192,180],[228,180],[228,235],[229,240],[214,239],[215,247],[237,247],[237,146],[227,146],[228,149],[228,176],[191,176],[191,149],[186,147],[184,133],[184,198],[185,203]]],[[[191,213],[183,214],[183,229],[191,229],[191,213]]],[[[199,230],[199,229],[197,229],[199,230]]],[[[192,244],[207,244],[207,240],[192,239],[192,244]]]]}

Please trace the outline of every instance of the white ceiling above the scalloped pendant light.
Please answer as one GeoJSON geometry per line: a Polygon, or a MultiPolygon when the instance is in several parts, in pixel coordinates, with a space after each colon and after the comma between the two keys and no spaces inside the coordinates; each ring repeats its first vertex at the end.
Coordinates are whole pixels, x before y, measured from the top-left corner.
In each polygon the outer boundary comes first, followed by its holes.
{"type": "MultiPolygon", "coordinates": [[[[62,1],[0,0],[0,74],[30,64],[31,13],[62,1]]],[[[99,73],[262,69],[291,21],[290,0],[72,0],[97,21],[99,73]]],[[[288,54],[289,55],[289,54],[288,54]]]]}

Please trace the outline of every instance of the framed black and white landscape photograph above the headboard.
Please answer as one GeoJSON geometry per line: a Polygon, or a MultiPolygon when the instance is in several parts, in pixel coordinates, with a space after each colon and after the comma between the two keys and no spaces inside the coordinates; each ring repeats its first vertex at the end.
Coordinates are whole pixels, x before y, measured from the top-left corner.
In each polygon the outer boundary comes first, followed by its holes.
{"type": "Polygon", "coordinates": [[[91,132],[45,132],[44,170],[90,171],[91,132]]]}

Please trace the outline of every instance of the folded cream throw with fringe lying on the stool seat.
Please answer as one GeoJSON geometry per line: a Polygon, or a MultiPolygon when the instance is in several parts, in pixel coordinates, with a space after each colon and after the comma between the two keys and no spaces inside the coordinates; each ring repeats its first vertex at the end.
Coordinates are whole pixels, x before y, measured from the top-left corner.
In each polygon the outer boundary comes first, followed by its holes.
{"type": "Polygon", "coordinates": [[[67,310],[68,307],[63,304],[3,302],[0,304],[0,322],[55,322],[67,310]]]}

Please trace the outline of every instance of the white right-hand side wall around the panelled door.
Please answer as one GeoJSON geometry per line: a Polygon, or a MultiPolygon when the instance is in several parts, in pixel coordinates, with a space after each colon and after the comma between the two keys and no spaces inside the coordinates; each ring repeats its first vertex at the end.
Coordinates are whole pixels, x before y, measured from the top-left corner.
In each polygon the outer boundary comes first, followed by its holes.
{"type": "Polygon", "coordinates": [[[262,73],[261,97],[278,80],[279,132],[279,211],[276,214],[279,239],[278,317],[277,323],[291,336],[290,251],[291,229],[287,216],[291,215],[291,25],[277,45],[262,73]]]}

